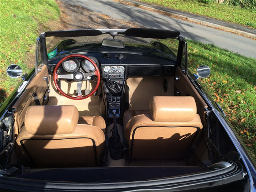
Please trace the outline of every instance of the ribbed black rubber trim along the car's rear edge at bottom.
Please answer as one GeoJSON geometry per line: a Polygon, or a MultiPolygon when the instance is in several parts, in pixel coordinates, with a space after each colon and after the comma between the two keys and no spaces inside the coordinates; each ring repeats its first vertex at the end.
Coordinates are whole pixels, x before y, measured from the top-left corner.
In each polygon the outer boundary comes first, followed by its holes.
{"type": "MultiPolygon", "coordinates": [[[[95,167],[94,167],[95,168],[95,167]]],[[[93,168],[93,169],[94,169],[93,168]]],[[[102,167],[97,167],[102,168],[102,167]]],[[[104,167],[110,169],[111,167],[104,167]]],[[[211,172],[195,173],[190,175],[172,177],[172,178],[160,178],[146,181],[133,181],[133,182],[98,182],[98,183],[70,183],[70,182],[50,182],[42,180],[31,180],[16,177],[0,177],[1,189],[12,189],[19,191],[180,191],[182,190],[201,188],[202,185],[207,187],[214,187],[229,183],[230,179],[240,175],[243,171],[242,165],[237,162],[233,163],[230,167],[222,168],[218,170],[212,170],[211,172]],[[222,181],[221,183],[216,183],[222,181]],[[178,184],[178,185],[177,185],[178,184]]],[[[233,181],[236,181],[233,180],[233,181]]],[[[232,182],[233,182],[232,181],[232,182]]]]}

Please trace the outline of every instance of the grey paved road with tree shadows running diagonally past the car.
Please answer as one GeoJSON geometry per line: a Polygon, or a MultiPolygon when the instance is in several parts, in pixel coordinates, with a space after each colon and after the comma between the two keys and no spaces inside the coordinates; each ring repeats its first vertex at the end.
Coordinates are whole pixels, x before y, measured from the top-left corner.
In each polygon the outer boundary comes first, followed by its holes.
{"type": "Polygon", "coordinates": [[[62,0],[66,3],[79,5],[115,19],[129,20],[148,28],[178,30],[181,35],[207,44],[215,44],[221,48],[240,53],[256,59],[256,41],[226,31],[213,29],[182,19],[168,17],[156,12],[143,10],[132,5],[112,0],[62,0]]]}

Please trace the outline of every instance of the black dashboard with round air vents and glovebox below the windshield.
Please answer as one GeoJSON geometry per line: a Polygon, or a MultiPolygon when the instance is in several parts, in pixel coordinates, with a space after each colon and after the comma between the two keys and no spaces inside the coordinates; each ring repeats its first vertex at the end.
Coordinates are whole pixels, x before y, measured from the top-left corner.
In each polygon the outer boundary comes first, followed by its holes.
{"type": "MultiPolygon", "coordinates": [[[[156,57],[138,53],[88,53],[84,54],[92,59],[101,72],[102,79],[127,79],[132,76],[173,75],[175,61],[165,57],[156,57]]],[[[48,69],[53,74],[56,64],[62,59],[49,60],[48,69]]],[[[64,61],[57,73],[70,74],[75,71],[93,72],[94,66],[86,59],[71,58],[64,61]]]]}

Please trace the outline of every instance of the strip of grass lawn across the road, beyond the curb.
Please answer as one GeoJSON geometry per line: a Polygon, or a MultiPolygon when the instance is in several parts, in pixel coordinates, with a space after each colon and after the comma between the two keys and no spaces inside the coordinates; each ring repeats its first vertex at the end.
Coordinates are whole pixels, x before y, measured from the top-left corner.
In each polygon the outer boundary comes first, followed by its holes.
{"type": "Polygon", "coordinates": [[[256,10],[195,0],[139,0],[256,29],[256,10]]]}

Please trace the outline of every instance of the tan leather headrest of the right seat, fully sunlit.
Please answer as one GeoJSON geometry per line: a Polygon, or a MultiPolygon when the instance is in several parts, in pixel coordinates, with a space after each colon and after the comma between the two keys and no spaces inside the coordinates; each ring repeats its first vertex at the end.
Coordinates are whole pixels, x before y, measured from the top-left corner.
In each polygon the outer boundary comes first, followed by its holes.
{"type": "Polygon", "coordinates": [[[188,122],[196,116],[196,102],[190,96],[155,96],[149,108],[157,122],[188,122]]]}

